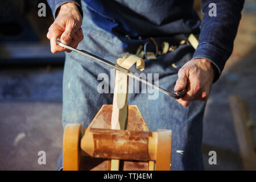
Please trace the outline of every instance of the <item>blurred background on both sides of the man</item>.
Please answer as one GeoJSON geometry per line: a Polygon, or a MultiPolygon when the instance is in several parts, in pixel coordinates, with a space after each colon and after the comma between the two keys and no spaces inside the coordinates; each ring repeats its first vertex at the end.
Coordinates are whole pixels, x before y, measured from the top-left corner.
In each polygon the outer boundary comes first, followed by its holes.
{"type": "MultiPolygon", "coordinates": [[[[0,170],[55,170],[61,151],[64,53],[46,38],[46,1],[0,1],[0,170]],[[46,165],[38,152],[46,152],[46,165]]],[[[195,9],[201,18],[200,1],[195,9]]],[[[256,1],[246,0],[234,51],[213,85],[204,117],[206,170],[256,170],[256,1]],[[231,98],[230,98],[231,96],[231,98]],[[210,165],[209,151],[217,164],[210,165]]]]}

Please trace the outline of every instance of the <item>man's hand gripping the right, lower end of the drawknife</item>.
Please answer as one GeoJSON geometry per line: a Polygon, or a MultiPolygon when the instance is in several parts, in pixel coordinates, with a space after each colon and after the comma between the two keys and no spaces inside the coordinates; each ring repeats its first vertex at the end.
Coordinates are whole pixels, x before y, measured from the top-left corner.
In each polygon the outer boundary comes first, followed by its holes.
{"type": "Polygon", "coordinates": [[[188,61],[180,68],[174,90],[179,91],[187,86],[187,94],[177,100],[187,107],[193,100],[207,101],[212,87],[215,68],[207,59],[188,61]]]}

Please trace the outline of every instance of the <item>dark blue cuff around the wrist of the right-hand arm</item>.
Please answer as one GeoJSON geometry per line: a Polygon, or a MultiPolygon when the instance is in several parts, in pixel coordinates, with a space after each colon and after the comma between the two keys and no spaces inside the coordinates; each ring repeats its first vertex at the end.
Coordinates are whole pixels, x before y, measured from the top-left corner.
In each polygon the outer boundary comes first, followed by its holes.
{"type": "Polygon", "coordinates": [[[225,62],[227,60],[225,59],[225,56],[224,56],[224,53],[222,53],[222,50],[207,42],[200,43],[197,46],[196,51],[193,54],[193,57],[191,60],[199,59],[199,58],[208,59],[216,67],[217,72],[216,72],[216,75],[214,75],[214,79],[213,79],[213,82],[216,82],[220,77],[221,72],[224,69],[225,62]]]}

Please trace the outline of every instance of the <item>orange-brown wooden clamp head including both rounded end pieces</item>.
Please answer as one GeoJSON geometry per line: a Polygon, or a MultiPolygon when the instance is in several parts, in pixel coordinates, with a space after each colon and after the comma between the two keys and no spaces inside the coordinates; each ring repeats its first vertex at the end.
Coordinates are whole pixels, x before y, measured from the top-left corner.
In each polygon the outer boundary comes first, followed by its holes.
{"type": "Polygon", "coordinates": [[[82,125],[68,124],[64,131],[63,169],[79,170],[82,156],[155,161],[156,170],[167,171],[171,162],[171,130],[83,130],[82,125]]]}

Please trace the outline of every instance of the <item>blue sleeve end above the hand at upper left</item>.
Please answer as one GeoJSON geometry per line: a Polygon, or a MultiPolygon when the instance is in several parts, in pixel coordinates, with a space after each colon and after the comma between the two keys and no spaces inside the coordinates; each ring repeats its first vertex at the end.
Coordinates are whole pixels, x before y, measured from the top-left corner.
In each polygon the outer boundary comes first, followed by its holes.
{"type": "Polygon", "coordinates": [[[73,3],[76,3],[77,6],[79,7],[79,11],[82,15],[82,6],[81,6],[81,0],[47,0],[48,2],[48,5],[49,7],[51,7],[51,10],[52,10],[52,14],[53,14],[53,18],[55,19],[56,18],[56,11],[57,9],[63,5],[64,3],[67,3],[67,2],[73,2],[73,3]]]}

